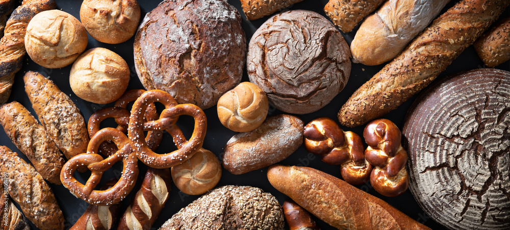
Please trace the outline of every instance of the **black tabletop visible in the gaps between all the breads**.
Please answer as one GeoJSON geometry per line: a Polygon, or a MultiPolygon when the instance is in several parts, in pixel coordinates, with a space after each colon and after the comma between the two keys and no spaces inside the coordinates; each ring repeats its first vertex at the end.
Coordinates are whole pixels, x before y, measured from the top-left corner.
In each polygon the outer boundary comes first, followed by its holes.
{"type": "MultiPolygon", "coordinates": [[[[260,27],[262,23],[264,23],[265,20],[269,18],[269,16],[266,16],[264,18],[249,21],[246,19],[246,16],[244,16],[244,13],[242,12],[241,3],[239,0],[228,0],[230,4],[235,6],[238,11],[241,14],[242,17],[242,27],[244,29],[244,32],[246,33],[247,42],[249,42],[249,39],[251,38],[251,35],[260,27]]],[[[458,1],[453,0],[447,7],[443,10],[445,11],[449,7],[451,7],[454,3],[458,1]]],[[[144,0],[139,1],[141,11],[142,11],[142,18],[147,13],[150,12],[152,9],[154,9],[158,4],[160,3],[160,0],[144,0]]],[[[294,4],[293,6],[285,9],[285,10],[293,10],[293,9],[305,9],[317,12],[324,17],[327,18],[325,15],[323,8],[326,5],[327,0],[320,0],[320,1],[314,1],[314,0],[304,0],[301,3],[294,4]]],[[[65,12],[68,12],[72,14],[73,16],[79,17],[79,11],[80,11],[81,1],[64,1],[64,0],[57,0],[57,9],[63,10],[65,12]]],[[[508,13],[508,10],[506,10],[503,15],[500,17],[509,16],[510,13],[508,13]]],[[[329,18],[328,18],[329,19],[329,18]]],[[[352,41],[355,30],[343,34],[345,40],[348,44],[352,41]]],[[[119,54],[124,60],[127,62],[127,64],[130,66],[131,70],[131,79],[129,83],[128,89],[143,89],[143,86],[141,85],[140,81],[138,80],[135,66],[134,66],[134,59],[133,59],[133,41],[134,39],[131,38],[130,40],[123,42],[121,44],[106,44],[101,43],[93,39],[89,36],[89,42],[87,49],[94,48],[94,47],[105,47],[113,52],[119,54]]],[[[338,111],[340,110],[340,107],[345,103],[347,98],[356,90],[358,89],[363,83],[368,81],[375,73],[377,73],[384,65],[379,66],[365,66],[362,64],[352,64],[352,70],[350,73],[350,78],[343,89],[327,106],[322,108],[321,110],[311,113],[311,114],[305,114],[305,115],[298,115],[304,123],[308,123],[314,118],[317,117],[329,117],[334,120],[337,120],[336,115],[338,111]]],[[[474,52],[474,49],[472,46],[467,48],[459,58],[457,58],[440,76],[439,78],[455,73],[458,71],[463,70],[469,70],[469,69],[475,69],[475,68],[482,68],[483,64],[481,60],[478,58],[476,53],[474,52]]],[[[35,114],[32,110],[30,101],[27,97],[27,95],[24,93],[23,89],[23,81],[22,76],[24,72],[28,70],[32,71],[38,71],[42,73],[45,76],[49,76],[50,80],[53,80],[55,84],[67,95],[69,95],[74,103],[78,106],[78,108],[81,110],[81,113],[83,114],[86,121],[88,121],[90,115],[94,113],[95,111],[101,109],[101,108],[107,108],[113,106],[112,104],[107,105],[98,105],[89,103],[87,101],[84,101],[74,95],[74,93],[71,91],[69,86],[69,72],[70,72],[71,66],[67,66],[65,68],[61,69],[47,69],[43,68],[37,64],[35,64],[28,56],[25,57],[25,61],[23,63],[23,68],[21,71],[19,71],[16,74],[16,79],[13,86],[13,91],[11,94],[11,97],[9,98],[9,102],[16,100],[19,103],[21,103],[23,106],[27,107],[32,114],[35,114]]],[[[504,69],[504,70],[510,70],[510,64],[508,62],[501,64],[500,66],[497,66],[498,69],[504,69]]],[[[248,76],[246,74],[246,68],[244,68],[243,78],[242,81],[248,81],[248,76]]],[[[413,97],[410,100],[406,101],[404,104],[402,104],[400,107],[398,107],[396,110],[390,112],[384,118],[390,119],[397,126],[401,129],[402,124],[405,118],[405,114],[407,109],[411,106],[413,100],[416,98],[413,97]]],[[[221,123],[219,122],[216,107],[212,107],[210,109],[205,110],[205,113],[208,118],[208,129],[207,129],[207,135],[205,142],[203,143],[203,147],[206,149],[211,150],[216,154],[220,160],[221,155],[223,151],[223,147],[234,134],[236,134],[233,131],[230,131],[226,129],[221,123]]],[[[282,113],[281,111],[276,110],[274,107],[269,108],[269,115],[276,115],[282,113]]],[[[177,124],[182,127],[183,132],[191,133],[192,129],[192,123],[193,120],[191,118],[182,117],[177,124]]],[[[107,124],[108,125],[108,124],[107,124]]],[[[360,136],[363,135],[363,129],[364,126],[359,126],[355,128],[349,128],[341,126],[341,128],[344,131],[353,131],[360,136]]],[[[188,135],[189,137],[189,135],[188,135]]],[[[169,136],[166,136],[166,140],[169,139],[169,136]]],[[[159,147],[157,152],[164,153],[169,152],[170,150],[173,150],[174,146],[168,144],[171,141],[163,141],[164,144],[159,147]]],[[[3,129],[0,129],[0,144],[6,145],[9,148],[11,148],[14,151],[19,152],[19,150],[14,146],[14,144],[10,141],[10,139],[7,137],[7,135],[4,133],[3,129]]],[[[26,160],[22,154],[20,154],[22,158],[26,160]]],[[[289,158],[283,160],[281,164],[284,165],[298,165],[298,166],[308,166],[313,167],[319,170],[322,170],[326,173],[335,175],[337,177],[341,177],[339,166],[330,166],[325,164],[320,160],[320,158],[315,157],[312,154],[309,154],[303,146],[299,147],[299,149],[294,152],[289,158]]],[[[140,175],[139,180],[137,181],[137,186],[142,181],[142,176],[144,175],[144,171],[146,167],[140,165],[140,175]]],[[[252,172],[248,172],[242,175],[233,175],[230,172],[223,170],[223,175],[221,177],[220,182],[218,183],[217,187],[222,185],[249,185],[253,187],[259,187],[263,189],[266,192],[269,192],[273,194],[280,203],[283,203],[288,197],[281,192],[278,192],[276,189],[274,189],[268,182],[266,177],[266,171],[267,168],[263,168],[260,170],[255,170],[252,172]]],[[[108,172],[104,177],[113,177],[113,176],[119,176],[120,170],[112,169],[110,172],[108,172]]],[[[90,174],[90,173],[89,173],[90,174]]],[[[83,180],[86,180],[87,174],[81,175],[81,178],[83,180]]],[[[80,216],[85,212],[85,210],[88,207],[88,203],[85,201],[74,197],[66,188],[64,188],[62,185],[56,186],[53,184],[50,184],[50,187],[52,187],[55,196],[57,197],[57,200],[59,202],[60,207],[62,208],[64,217],[65,217],[65,227],[68,229],[69,227],[74,224],[75,221],[80,218],[80,216]]],[[[380,194],[378,194],[371,186],[370,183],[367,183],[365,185],[356,186],[360,188],[361,190],[368,192],[376,197],[381,198],[382,200],[385,200],[386,202],[390,203],[393,207],[397,208],[398,210],[402,211],[406,215],[409,215],[411,218],[417,220],[418,222],[421,222],[432,229],[442,229],[444,228],[434,220],[428,217],[428,215],[419,207],[418,203],[414,199],[411,192],[408,190],[404,194],[398,196],[398,197],[385,197],[380,194]]],[[[134,189],[136,191],[136,188],[134,189]]],[[[125,207],[129,204],[131,201],[132,194],[125,198],[122,202],[122,208],[125,209],[125,207]]],[[[178,212],[180,209],[186,207],[190,202],[198,198],[199,196],[192,196],[187,195],[179,191],[174,185],[172,185],[172,189],[170,192],[169,199],[165,205],[165,208],[163,209],[161,215],[159,216],[158,220],[154,224],[153,228],[157,229],[159,228],[167,219],[169,219],[173,214],[178,212]]],[[[333,227],[329,226],[328,224],[320,221],[319,219],[315,218],[315,220],[318,222],[319,226],[322,229],[334,229],[333,227]]]]}

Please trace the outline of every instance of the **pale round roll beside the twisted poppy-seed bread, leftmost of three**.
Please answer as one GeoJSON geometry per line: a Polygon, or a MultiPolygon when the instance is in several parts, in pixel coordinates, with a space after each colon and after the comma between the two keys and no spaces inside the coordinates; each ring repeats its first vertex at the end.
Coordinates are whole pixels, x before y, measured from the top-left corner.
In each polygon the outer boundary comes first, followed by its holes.
{"type": "Polygon", "coordinates": [[[82,23],[60,10],[47,10],[30,20],[25,48],[30,58],[46,68],[70,65],[85,51],[87,32],[82,23]]]}

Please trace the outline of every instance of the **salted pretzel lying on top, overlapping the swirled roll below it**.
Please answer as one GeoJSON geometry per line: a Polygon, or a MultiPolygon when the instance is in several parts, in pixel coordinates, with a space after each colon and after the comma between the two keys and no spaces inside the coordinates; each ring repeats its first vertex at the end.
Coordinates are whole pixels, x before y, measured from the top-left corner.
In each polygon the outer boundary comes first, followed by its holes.
{"type": "Polygon", "coordinates": [[[144,164],[152,168],[169,168],[186,161],[202,147],[206,127],[206,115],[198,106],[177,104],[177,101],[169,93],[161,90],[149,90],[138,97],[133,105],[127,136],[129,136],[138,159],[144,164]],[[143,116],[147,106],[156,102],[163,104],[165,109],[161,112],[158,120],[144,122],[143,116]],[[192,116],[195,120],[194,130],[188,141],[175,124],[181,115],[192,116]],[[177,150],[167,154],[157,154],[147,146],[143,132],[163,130],[173,137],[177,150]]]}

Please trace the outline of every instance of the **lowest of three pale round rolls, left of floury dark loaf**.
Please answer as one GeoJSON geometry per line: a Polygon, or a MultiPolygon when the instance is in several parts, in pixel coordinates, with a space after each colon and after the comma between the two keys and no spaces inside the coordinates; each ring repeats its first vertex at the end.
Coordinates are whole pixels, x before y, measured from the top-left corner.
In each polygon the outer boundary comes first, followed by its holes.
{"type": "Polygon", "coordinates": [[[108,104],[122,96],[129,79],[127,63],[106,48],[87,50],[74,62],[69,73],[72,91],[97,104],[108,104]]]}

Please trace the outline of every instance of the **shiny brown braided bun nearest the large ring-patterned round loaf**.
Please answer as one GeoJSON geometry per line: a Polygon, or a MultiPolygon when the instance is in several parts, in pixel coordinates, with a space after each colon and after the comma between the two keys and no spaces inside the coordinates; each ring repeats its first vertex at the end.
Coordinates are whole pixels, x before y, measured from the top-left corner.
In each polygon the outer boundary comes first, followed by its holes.
{"type": "Polygon", "coordinates": [[[368,144],[365,158],[374,166],[370,183],[375,191],[385,196],[398,196],[409,187],[405,170],[407,152],[400,144],[398,127],[388,119],[370,122],[363,132],[368,144]]]}

